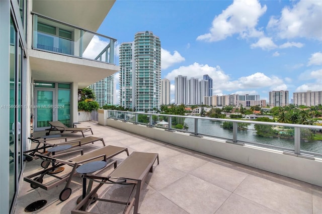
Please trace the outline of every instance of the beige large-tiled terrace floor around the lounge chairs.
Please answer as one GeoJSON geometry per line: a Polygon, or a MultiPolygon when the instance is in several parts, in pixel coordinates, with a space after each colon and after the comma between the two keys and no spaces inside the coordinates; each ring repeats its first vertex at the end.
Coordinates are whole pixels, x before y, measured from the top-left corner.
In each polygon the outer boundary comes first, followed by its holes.
{"type": "MultiPolygon", "coordinates": [[[[115,123],[123,125],[126,129],[129,122],[117,120],[115,123]]],[[[79,125],[79,127],[88,126],[92,127],[94,136],[103,137],[109,145],[127,147],[130,153],[143,151],[159,154],[160,164],[153,166],[153,173],[148,174],[147,182],[143,185],[139,213],[320,213],[322,210],[321,186],[110,126],[101,126],[93,122],[83,122],[79,125]]],[[[142,124],[133,126],[144,129],[147,134],[154,129],[142,124]]],[[[35,133],[35,137],[41,135],[42,132],[35,133]]],[[[167,135],[163,135],[165,140],[168,138],[167,135]]],[[[63,134],[63,136],[72,139],[82,135],[63,134]]],[[[181,141],[187,138],[182,135],[181,141]]],[[[190,138],[196,144],[202,139],[194,136],[190,138]]],[[[102,144],[97,142],[93,146],[88,146],[87,151],[101,146],[102,144]]],[[[229,153],[234,156],[243,155],[233,149],[224,153],[223,155],[229,153]]],[[[125,158],[126,155],[116,156],[118,162],[125,158]]],[[[301,161],[312,161],[296,158],[301,161]]],[[[264,161],[271,162],[274,168],[279,167],[278,164],[273,164],[273,160],[264,161]]],[[[39,170],[40,163],[41,160],[26,162],[24,176],[39,170]]],[[[307,168],[310,167],[310,164],[307,164],[307,168]]],[[[306,174],[306,176],[312,175],[306,174]]],[[[22,181],[15,213],[23,213],[28,204],[40,199],[47,200],[47,204],[37,210],[39,213],[70,213],[76,206],[76,199],[82,194],[82,178],[80,176],[73,178],[70,186],[72,194],[61,202],[58,196],[63,186],[64,184],[61,184],[46,191],[40,188],[32,189],[29,183],[22,181]]],[[[124,186],[107,185],[102,194],[116,194],[122,197],[125,191],[124,186]]],[[[108,213],[122,213],[122,207],[115,204],[96,202],[90,207],[95,213],[106,213],[107,210],[108,213]]]]}

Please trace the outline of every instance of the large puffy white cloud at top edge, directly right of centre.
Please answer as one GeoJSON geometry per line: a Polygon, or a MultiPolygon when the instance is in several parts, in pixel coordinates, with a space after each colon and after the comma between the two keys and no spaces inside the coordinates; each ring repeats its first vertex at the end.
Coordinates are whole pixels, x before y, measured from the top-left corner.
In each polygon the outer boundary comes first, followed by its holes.
{"type": "Polygon", "coordinates": [[[257,0],[234,0],[232,5],[214,18],[210,32],[198,36],[197,40],[214,42],[233,34],[239,34],[242,38],[258,37],[262,33],[255,27],[266,9],[266,5],[262,7],[257,0]]]}

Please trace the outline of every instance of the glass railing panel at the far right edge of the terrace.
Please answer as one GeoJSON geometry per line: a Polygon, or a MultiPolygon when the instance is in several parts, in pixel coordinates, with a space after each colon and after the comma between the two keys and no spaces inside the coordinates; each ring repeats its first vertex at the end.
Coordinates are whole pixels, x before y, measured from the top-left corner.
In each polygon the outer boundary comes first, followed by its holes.
{"type": "Polygon", "coordinates": [[[322,128],[300,129],[301,151],[319,153],[322,156],[322,128]]]}

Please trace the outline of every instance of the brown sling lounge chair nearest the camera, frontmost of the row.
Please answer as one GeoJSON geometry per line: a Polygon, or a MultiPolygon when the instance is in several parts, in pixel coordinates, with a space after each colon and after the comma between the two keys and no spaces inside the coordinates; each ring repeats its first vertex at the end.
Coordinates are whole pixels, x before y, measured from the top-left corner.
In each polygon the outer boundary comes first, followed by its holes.
{"type": "Polygon", "coordinates": [[[93,182],[99,184],[88,193],[84,199],[78,203],[78,205],[71,210],[72,214],[91,213],[87,212],[86,209],[94,201],[105,201],[112,203],[124,204],[125,209],[123,213],[129,213],[132,206],[134,205],[133,213],[137,213],[141,188],[145,182],[145,179],[149,172],[153,170],[153,164],[157,160],[159,164],[159,158],[157,153],[146,153],[146,152],[133,152],[128,158],[126,158],[109,176],[99,175],[83,175],[90,180],[89,186],[92,186],[93,182]],[[133,184],[133,189],[128,197],[127,201],[108,200],[104,198],[96,197],[96,193],[103,184],[133,184]],[[133,190],[136,186],[135,196],[131,198],[133,190]]]}

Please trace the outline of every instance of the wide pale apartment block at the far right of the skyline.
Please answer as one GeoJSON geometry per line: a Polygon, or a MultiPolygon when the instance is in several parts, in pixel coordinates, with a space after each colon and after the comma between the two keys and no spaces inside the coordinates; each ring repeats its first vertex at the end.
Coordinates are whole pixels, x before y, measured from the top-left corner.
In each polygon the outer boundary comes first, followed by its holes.
{"type": "Polygon", "coordinates": [[[322,91],[306,91],[293,93],[294,105],[314,106],[322,104],[322,91]]]}

